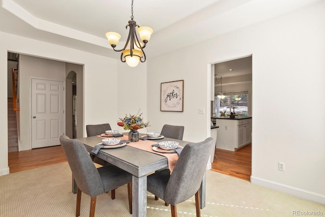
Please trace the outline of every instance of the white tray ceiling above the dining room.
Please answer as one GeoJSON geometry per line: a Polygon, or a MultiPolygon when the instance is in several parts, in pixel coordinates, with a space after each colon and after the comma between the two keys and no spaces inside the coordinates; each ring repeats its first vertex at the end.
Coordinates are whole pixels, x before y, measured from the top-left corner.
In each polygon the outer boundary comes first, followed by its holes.
{"type": "MultiPolygon", "coordinates": [[[[134,0],[134,20],[154,33],[148,59],[305,7],[317,0],[134,0]]],[[[0,31],[120,58],[106,32],[124,45],[131,0],[0,0],[0,31]]]]}

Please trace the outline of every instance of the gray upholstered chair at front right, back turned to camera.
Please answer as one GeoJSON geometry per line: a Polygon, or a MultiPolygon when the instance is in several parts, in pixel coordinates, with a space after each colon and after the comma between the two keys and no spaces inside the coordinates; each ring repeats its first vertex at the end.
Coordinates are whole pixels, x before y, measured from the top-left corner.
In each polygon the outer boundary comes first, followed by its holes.
{"type": "Polygon", "coordinates": [[[175,168],[160,170],[147,177],[147,190],[171,204],[172,217],[177,216],[176,205],[193,195],[197,216],[200,215],[200,186],[214,140],[210,137],[199,143],[187,144],[179,155],[175,168]]]}

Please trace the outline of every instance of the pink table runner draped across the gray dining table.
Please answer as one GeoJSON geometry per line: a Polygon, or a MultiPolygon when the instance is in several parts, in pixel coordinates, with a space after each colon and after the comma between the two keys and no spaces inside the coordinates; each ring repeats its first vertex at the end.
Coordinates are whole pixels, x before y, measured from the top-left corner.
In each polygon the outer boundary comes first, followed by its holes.
{"type": "MultiPolygon", "coordinates": [[[[105,138],[108,138],[108,137],[102,137],[102,136],[98,136],[98,137],[101,137],[103,139],[105,138]]],[[[121,140],[128,140],[128,136],[122,136],[122,137],[118,137],[120,138],[121,140]]],[[[155,140],[139,140],[138,142],[129,142],[129,143],[126,143],[126,145],[128,146],[131,146],[131,147],[135,147],[135,148],[138,148],[138,149],[141,149],[141,150],[145,150],[145,151],[149,151],[149,152],[152,152],[152,153],[156,153],[156,154],[160,154],[161,156],[165,156],[168,160],[168,167],[169,167],[169,170],[171,171],[171,173],[173,172],[173,169],[175,167],[175,164],[178,160],[178,154],[177,153],[162,153],[162,152],[157,152],[157,151],[154,151],[152,150],[152,144],[157,144],[158,142],[155,141],[155,140]]]]}

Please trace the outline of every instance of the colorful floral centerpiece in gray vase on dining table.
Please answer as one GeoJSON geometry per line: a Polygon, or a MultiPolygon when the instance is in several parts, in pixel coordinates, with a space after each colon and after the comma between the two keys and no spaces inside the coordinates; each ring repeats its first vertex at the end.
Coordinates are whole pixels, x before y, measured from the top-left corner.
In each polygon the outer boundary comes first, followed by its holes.
{"type": "Polygon", "coordinates": [[[140,110],[136,115],[127,115],[123,118],[119,118],[117,125],[123,127],[124,130],[130,130],[128,133],[128,140],[131,142],[139,141],[139,129],[149,127],[149,122],[144,122],[143,118],[141,117],[142,113],[139,114],[140,110]],[[139,115],[138,115],[139,114],[139,115]]]}

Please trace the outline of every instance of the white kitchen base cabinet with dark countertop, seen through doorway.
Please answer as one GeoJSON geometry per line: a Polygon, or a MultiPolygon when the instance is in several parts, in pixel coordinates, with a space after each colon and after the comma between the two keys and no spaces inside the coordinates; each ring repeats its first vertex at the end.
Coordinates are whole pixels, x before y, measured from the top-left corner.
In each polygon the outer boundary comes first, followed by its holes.
{"type": "Polygon", "coordinates": [[[236,151],[251,143],[252,118],[215,118],[218,126],[217,148],[236,151]]]}

